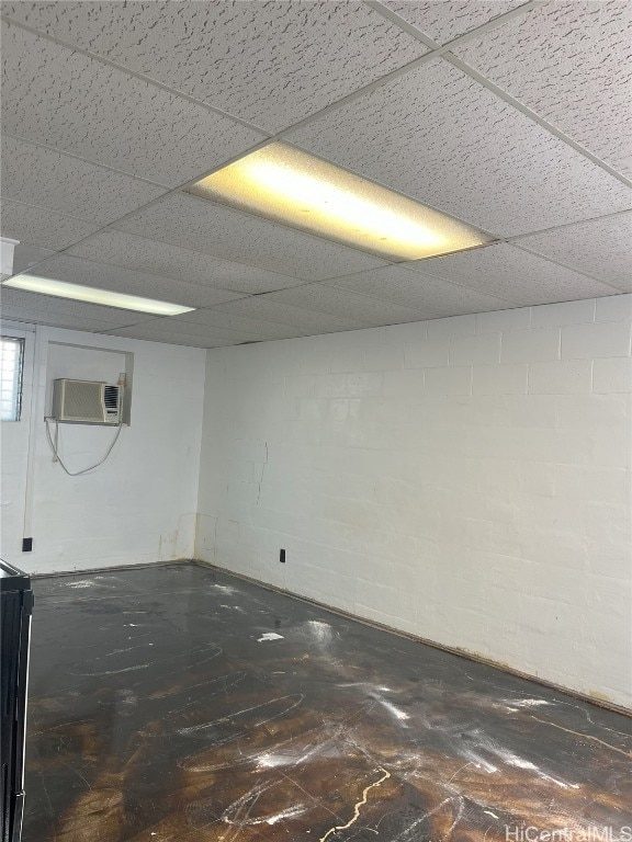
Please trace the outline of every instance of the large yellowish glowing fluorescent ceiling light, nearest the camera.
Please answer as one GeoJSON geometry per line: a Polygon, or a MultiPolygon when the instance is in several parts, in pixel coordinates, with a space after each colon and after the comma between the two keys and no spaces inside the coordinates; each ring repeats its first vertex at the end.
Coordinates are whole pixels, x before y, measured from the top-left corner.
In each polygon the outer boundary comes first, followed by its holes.
{"type": "Polygon", "coordinates": [[[229,163],[187,192],[396,261],[490,241],[458,219],[281,143],[229,163]]]}

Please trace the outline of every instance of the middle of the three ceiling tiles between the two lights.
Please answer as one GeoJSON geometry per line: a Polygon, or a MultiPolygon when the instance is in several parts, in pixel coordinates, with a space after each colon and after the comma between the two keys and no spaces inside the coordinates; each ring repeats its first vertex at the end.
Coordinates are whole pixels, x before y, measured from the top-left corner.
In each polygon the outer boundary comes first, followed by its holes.
{"type": "Polygon", "coordinates": [[[69,249],[69,253],[100,263],[169,275],[192,284],[210,284],[237,293],[269,293],[304,283],[289,275],[111,229],[83,240],[69,249]]]}

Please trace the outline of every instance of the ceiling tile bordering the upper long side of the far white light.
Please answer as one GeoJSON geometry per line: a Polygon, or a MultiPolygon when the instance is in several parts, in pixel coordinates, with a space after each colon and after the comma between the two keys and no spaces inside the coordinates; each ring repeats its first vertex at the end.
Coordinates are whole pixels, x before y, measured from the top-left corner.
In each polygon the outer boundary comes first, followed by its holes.
{"type": "Polygon", "coordinates": [[[242,293],[229,293],[203,284],[189,284],[165,275],[137,272],[109,263],[94,263],[67,254],[58,254],[44,261],[33,270],[33,274],[189,307],[210,307],[242,297],[242,293]]]}

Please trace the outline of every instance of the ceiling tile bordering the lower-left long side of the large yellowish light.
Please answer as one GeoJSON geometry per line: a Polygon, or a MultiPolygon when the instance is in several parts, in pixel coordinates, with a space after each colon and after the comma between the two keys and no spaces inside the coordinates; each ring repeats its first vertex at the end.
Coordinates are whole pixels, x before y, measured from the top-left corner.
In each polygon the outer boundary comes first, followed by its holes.
{"type": "Polygon", "coordinates": [[[370,254],[181,193],[158,200],[116,228],[306,281],[385,265],[370,254]]]}

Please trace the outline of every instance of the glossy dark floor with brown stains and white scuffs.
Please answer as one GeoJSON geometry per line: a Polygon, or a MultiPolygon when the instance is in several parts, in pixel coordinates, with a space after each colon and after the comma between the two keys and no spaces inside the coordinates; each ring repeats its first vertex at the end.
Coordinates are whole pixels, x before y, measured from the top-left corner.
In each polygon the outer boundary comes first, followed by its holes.
{"type": "Polygon", "coordinates": [[[35,598],[24,842],[632,826],[628,717],[195,565],[35,598]]]}

